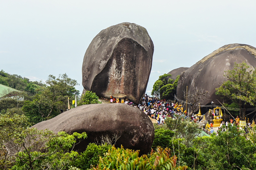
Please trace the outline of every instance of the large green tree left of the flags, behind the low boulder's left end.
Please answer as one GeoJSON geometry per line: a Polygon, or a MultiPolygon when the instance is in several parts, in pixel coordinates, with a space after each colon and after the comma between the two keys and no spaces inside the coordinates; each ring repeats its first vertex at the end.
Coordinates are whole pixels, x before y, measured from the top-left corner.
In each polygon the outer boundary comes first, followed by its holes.
{"type": "Polygon", "coordinates": [[[75,99],[79,91],[75,89],[77,81],[66,74],[56,78],[49,75],[46,85],[40,88],[32,101],[24,101],[22,110],[33,124],[53,118],[68,109],[67,101],[75,99]]]}

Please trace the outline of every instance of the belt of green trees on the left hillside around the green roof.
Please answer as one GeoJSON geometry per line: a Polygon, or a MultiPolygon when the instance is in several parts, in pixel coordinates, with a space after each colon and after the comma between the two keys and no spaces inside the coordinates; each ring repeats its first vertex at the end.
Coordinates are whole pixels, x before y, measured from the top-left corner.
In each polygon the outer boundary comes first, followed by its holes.
{"type": "Polygon", "coordinates": [[[79,91],[75,89],[77,81],[66,74],[59,77],[49,75],[43,84],[18,75],[10,75],[2,70],[0,84],[21,91],[16,97],[2,98],[0,112],[25,114],[32,124],[53,118],[67,110],[68,97],[72,102],[75,95],[79,95],[79,91]]]}

